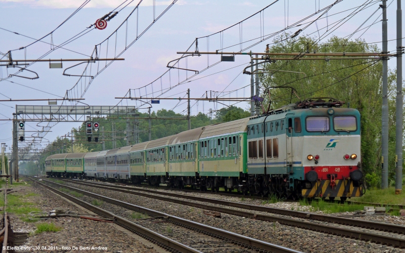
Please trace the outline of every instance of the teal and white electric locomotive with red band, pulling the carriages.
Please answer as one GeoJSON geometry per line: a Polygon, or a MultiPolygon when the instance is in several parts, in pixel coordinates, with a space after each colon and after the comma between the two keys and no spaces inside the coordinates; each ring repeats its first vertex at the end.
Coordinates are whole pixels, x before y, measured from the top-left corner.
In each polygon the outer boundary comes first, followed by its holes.
{"type": "Polygon", "coordinates": [[[251,118],[244,190],[291,199],[361,196],[360,114],[343,104],[310,100],[251,118]]]}

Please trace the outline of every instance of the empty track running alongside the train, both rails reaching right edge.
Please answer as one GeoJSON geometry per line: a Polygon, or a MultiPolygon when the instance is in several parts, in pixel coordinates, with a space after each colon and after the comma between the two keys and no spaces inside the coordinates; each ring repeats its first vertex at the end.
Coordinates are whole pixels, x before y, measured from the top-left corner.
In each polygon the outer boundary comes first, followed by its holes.
{"type": "Polygon", "coordinates": [[[328,216],[328,215],[319,215],[319,214],[312,214],[312,213],[305,213],[305,212],[297,212],[297,211],[288,210],[288,209],[250,205],[250,204],[231,202],[231,201],[225,201],[225,200],[219,200],[219,199],[201,198],[201,197],[181,195],[181,194],[170,193],[170,192],[161,192],[161,191],[142,189],[142,188],[136,188],[136,187],[125,187],[125,186],[117,186],[117,185],[106,186],[106,185],[100,184],[100,183],[85,183],[85,182],[80,182],[77,180],[68,180],[68,181],[70,181],[72,183],[76,183],[76,184],[90,186],[90,187],[118,191],[118,192],[123,192],[123,193],[127,193],[127,194],[133,194],[133,195],[138,195],[138,196],[143,196],[143,197],[193,206],[193,207],[197,207],[197,208],[201,208],[201,209],[213,210],[215,212],[220,212],[220,213],[227,213],[227,214],[236,215],[236,216],[243,216],[243,217],[248,217],[248,218],[256,219],[256,220],[278,222],[280,224],[284,224],[284,225],[288,225],[288,226],[300,227],[300,228],[309,229],[309,230],[313,230],[313,231],[319,231],[319,232],[324,232],[324,233],[333,234],[333,235],[340,235],[340,236],[355,238],[355,239],[359,239],[359,240],[372,241],[372,242],[376,242],[376,243],[392,245],[394,247],[400,247],[400,248],[405,247],[405,237],[402,236],[402,238],[398,238],[398,237],[401,237],[398,235],[405,234],[405,227],[399,226],[399,225],[394,225],[394,224],[370,222],[370,221],[363,221],[363,220],[356,220],[356,219],[342,218],[342,217],[328,216]],[[135,191],[142,191],[142,192],[135,192],[135,191]],[[148,192],[151,194],[144,193],[144,192],[148,192]],[[158,194],[158,195],[163,195],[163,196],[157,196],[157,195],[152,195],[152,194],[158,194]],[[228,207],[221,207],[221,206],[210,205],[210,204],[190,202],[190,201],[186,201],[186,200],[168,198],[165,196],[190,199],[190,200],[201,201],[201,202],[209,202],[209,203],[213,203],[213,204],[226,205],[226,206],[237,207],[240,209],[248,209],[248,210],[232,209],[232,208],[228,208],[228,207]],[[253,213],[253,212],[250,212],[251,210],[270,213],[273,215],[253,213]],[[278,216],[274,216],[274,215],[278,215],[278,216]],[[284,217],[280,217],[280,216],[284,216],[284,217]],[[301,220],[292,219],[292,218],[285,217],[285,216],[300,218],[301,220]],[[319,223],[314,223],[313,221],[318,221],[319,223]],[[322,222],[324,224],[321,224],[320,222],[322,222]],[[331,223],[333,223],[333,224],[331,224],[331,223]],[[334,225],[334,224],[336,224],[336,225],[334,225]],[[345,225],[346,227],[342,226],[342,225],[345,225]],[[365,229],[369,229],[369,230],[373,230],[373,231],[371,231],[371,232],[370,231],[369,232],[368,231],[359,231],[358,229],[355,230],[356,228],[353,229],[353,227],[361,228],[361,229],[365,228],[365,229]],[[379,234],[378,231],[382,231],[384,233],[379,234]]]}

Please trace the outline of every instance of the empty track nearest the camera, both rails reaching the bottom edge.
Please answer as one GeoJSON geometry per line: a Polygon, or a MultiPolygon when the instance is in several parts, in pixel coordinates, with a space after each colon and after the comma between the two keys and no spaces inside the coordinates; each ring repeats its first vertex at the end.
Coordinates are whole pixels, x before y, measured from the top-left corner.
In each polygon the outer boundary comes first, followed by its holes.
{"type": "MultiPolygon", "coordinates": [[[[171,251],[175,252],[211,252],[215,250],[215,252],[234,252],[236,249],[239,249],[240,252],[253,252],[253,251],[260,251],[260,252],[300,252],[297,250],[293,250],[290,248],[282,247],[279,245],[271,244],[265,241],[257,240],[254,238],[250,238],[247,236],[239,235],[236,233],[232,233],[226,230],[210,227],[204,224],[199,224],[196,222],[188,221],[179,217],[171,216],[165,213],[157,212],[156,210],[144,208],[141,206],[137,206],[134,204],[130,204],[127,202],[119,201],[116,199],[112,199],[106,196],[102,196],[99,194],[83,191],[74,187],[61,185],[52,181],[44,180],[46,183],[51,183],[57,187],[61,188],[68,188],[75,192],[79,192],[85,194],[87,196],[97,198],[103,200],[108,203],[112,203],[126,209],[134,210],[138,213],[143,213],[151,218],[143,219],[141,221],[137,221],[139,224],[144,225],[145,227],[136,224],[134,222],[125,220],[117,215],[114,215],[106,210],[103,210],[99,207],[93,206],[85,201],[80,199],[74,198],[69,194],[61,192],[47,184],[43,184],[38,182],[37,180],[30,178],[31,180],[35,181],[36,183],[68,198],[69,200],[78,203],[95,213],[101,214],[103,216],[111,217],[114,219],[114,222],[120,226],[123,226],[131,231],[136,231],[142,235],[143,233],[148,234],[148,237],[152,241],[157,241],[161,245],[164,245],[168,249],[172,249],[171,251]],[[152,220],[152,222],[149,222],[152,220]],[[168,238],[159,234],[159,232],[163,232],[163,229],[167,230],[167,225],[157,226],[156,224],[164,224],[170,223],[171,224],[171,232],[174,234],[176,240],[173,238],[168,238]],[[153,230],[153,231],[152,231],[153,230]],[[140,232],[139,232],[140,231],[140,232]],[[187,236],[184,236],[187,234],[187,236]],[[188,246],[182,244],[177,241],[178,240],[185,240],[185,239],[193,239],[197,243],[189,244],[188,246]],[[176,251],[177,250],[177,251],[176,251]],[[200,251],[201,250],[201,251],[200,251]],[[211,250],[211,251],[210,251],[211,250]]],[[[166,231],[167,232],[167,231],[166,231]]]]}

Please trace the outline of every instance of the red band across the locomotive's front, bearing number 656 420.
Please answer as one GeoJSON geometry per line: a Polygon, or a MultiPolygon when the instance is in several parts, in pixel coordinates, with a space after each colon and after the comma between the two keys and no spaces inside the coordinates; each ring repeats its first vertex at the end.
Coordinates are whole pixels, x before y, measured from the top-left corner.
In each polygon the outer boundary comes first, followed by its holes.
{"type": "Polygon", "coordinates": [[[346,179],[350,177],[350,172],[355,170],[358,170],[358,166],[304,166],[304,175],[314,171],[319,180],[331,179],[331,175],[334,175],[335,179],[346,179]]]}

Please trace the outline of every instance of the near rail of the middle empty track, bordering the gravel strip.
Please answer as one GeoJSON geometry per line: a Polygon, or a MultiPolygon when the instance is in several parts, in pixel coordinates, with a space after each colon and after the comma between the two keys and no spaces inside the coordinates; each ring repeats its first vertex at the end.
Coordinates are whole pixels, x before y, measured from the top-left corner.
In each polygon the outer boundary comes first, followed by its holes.
{"type": "MultiPolygon", "coordinates": [[[[52,182],[52,181],[48,181],[48,182],[52,182]]],[[[54,182],[52,182],[52,183],[54,183],[54,182]]],[[[54,183],[54,184],[57,184],[57,183],[54,183]]],[[[66,185],[60,185],[60,186],[66,187],[66,188],[70,187],[70,186],[66,186],[66,185]]],[[[73,187],[71,187],[71,188],[76,189],[73,187]]],[[[107,187],[105,187],[105,188],[107,188],[107,187]]],[[[89,193],[87,191],[83,191],[83,190],[79,190],[79,189],[77,189],[76,191],[80,191],[83,194],[89,193]]],[[[318,231],[318,232],[327,233],[327,234],[349,237],[349,238],[354,238],[354,239],[358,239],[358,240],[371,241],[371,242],[376,242],[376,243],[380,243],[380,244],[387,244],[387,245],[391,245],[393,247],[405,248],[405,239],[394,238],[391,236],[378,235],[375,233],[369,233],[369,232],[364,232],[364,231],[355,231],[355,230],[350,230],[350,229],[346,229],[346,228],[339,228],[339,227],[331,226],[331,225],[316,224],[316,223],[311,223],[309,221],[300,221],[300,220],[295,220],[295,219],[290,219],[290,218],[285,218],[285,217],[275,217],[275,216],[268,216],[268,215],[262,215],[262,214],[255,214],[252,212],[235,210],[235,209],[231,209],[231,208],[227,208],[227,207],[199,204],[199,203],[187,202],[187,201],[178,200],[178,199],[168,199],[163,196],[149,195],[149,194],[145,194],[145,193],[132,192],[132,191],[128,191],[128,190],[116,189],[116,191],[122,191],[122,192],[130,193],[133,195],[145,196],[148,198],[154,198],[154,199],[158,199],[158,200],[162,200],[162,201],[169,201],[169,202],[173,202],[173,203],[194,206],[194,207],[201,208],[201,209],[213,210],[215,212],[226,213],[226,214],[231,214],[231,215],[235,215],[235,216],[247,217],[250,219],[262,220],[262,221],[268,221],[268,222],[278,222],[280,224],[287,225],[287,226],[299,227],[299,228],[318,231]]],[[[90,194],[94,194],[95,196],[98,195],[95,193],[90,193],[90,194]]],[[[313,214],[309,214],[309,213],[303,213],[303,214],[306,214],[308,216],[313,215],[313,214]]],[[[353,221],[350,219],[348,219],[348,220],[353,221]]],[[[389,225],[389,224],[383,224],[383,225],[389,225]]]]}

